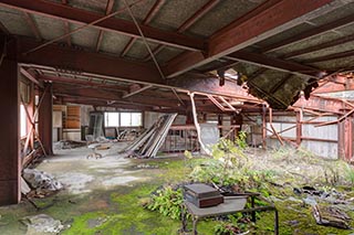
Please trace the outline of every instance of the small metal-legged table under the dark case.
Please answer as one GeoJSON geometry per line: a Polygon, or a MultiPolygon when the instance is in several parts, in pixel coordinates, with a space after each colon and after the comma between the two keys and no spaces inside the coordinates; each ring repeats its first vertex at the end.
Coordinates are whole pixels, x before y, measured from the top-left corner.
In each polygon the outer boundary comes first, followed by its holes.
{"type": "MultiPolygon", "coordinates": [[[[274,234],[279,235],[279,215],[278,215],[278,210],[277,207],[271,204],[268,206],[257,206],[254,207],[254,199],[259,196],[259,193],[244,193],[244,194],[237,194],[235,196],[225,196],[225,202],[217,205],[217,206],[211,206],[211,207],[205,207],[200,209],[194,205],[192,203],[184,200],[184,203],[181,205],[181,233],[190,232],[187,231],[187,211],[191,215],[192,220],[192,234],[197,235],[197,224],[198,221],[201,218],[206,217],[215,217],[219,215],[229,215],[229,214],[235,214],[238,212],[246,212],[246,213],[251,213],[252,215],[252,222],[256,222],[256,212],[262,212],[262,211],[273,211],[274,212],[274,234]],[[244,204],[241,205],[241,207],[232,207],[232,206],[226,206],[230,200],[235,200],[235,202],[231,202],[232,205],[237,205],[237,201],[240,202],[247,201],[247,199],[251,199],[251,207],[250,209],[244,209],[244,204]]],[[[268,202],[268,201],[267,201],[268,202]]],[[[229,202],[230,203],[230,202],[229,202]]],[[[243,203],[243,202],[242,202],[243,203]]]]}

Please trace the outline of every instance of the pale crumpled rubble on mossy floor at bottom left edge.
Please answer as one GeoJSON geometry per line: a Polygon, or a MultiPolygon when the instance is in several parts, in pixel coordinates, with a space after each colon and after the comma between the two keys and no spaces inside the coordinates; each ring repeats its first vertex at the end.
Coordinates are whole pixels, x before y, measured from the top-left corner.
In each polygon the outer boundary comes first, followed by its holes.
{"type": "Polygon", "coordinates": [[[27,216],[21,220],[28,226],[25,235],[51,235],[59,234],[64,226],[58,220],[46,215],[39,214],[34,216],[27,216]]]}

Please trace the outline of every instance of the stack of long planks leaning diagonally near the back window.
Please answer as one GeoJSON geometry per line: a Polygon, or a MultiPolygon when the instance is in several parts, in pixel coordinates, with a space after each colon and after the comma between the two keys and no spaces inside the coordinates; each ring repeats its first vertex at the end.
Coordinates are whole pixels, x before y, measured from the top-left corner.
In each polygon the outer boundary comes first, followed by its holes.
{"type": "Polygon", "coordinates": [[[168,130],[177,114],[168,114],[159,117],[142,136],[122,152],[127,152],[129,157],[154,158],[163,146],[168,130]]]}

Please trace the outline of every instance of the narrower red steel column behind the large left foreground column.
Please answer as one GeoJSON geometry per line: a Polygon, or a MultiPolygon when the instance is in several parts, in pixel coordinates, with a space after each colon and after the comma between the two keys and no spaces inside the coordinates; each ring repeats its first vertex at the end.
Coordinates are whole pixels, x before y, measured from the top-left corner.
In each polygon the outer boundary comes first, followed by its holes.
{"type": "Polygon", "coordinates": [[[39,135],[46,154],[53,154],[53,93],[52,84],[45,84],[42,104],[39,107],[39,135]]]}

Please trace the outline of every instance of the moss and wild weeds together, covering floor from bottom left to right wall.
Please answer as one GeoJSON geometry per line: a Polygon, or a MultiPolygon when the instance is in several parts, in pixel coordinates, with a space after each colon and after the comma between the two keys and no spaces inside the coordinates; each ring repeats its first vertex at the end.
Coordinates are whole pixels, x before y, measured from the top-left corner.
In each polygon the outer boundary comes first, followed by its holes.
{"type": "MultiPolygon", "coordinates": [[[[177,234],[181,226],[181,193],[177,185],[191,181],[211,183],[237,192],[260,192],[274,202],[282,235],[352,233],[316,225],[311,206],[302,200],[306,195],[299,196],[293,192],[295,186],[313,185],[325,192],[336,190],[345,199],[354,197],[354,170],[345,162],[319,160],[306,151],[293,149],[279,149],[271,152],[269,158],[256,158],[250,157],[249,150],[241,150],[227,140],[221,140],[214,148],[212,158],[195,158],[186,152],[185,159],[133,160],[133,164],[142,162],[158,165],[146,170],[150,180],[144,183],[82,195],[59,193],[37,199],[34,201],[41,207],[40,211],[35,211],[29,203],[12,210],[0,209],[0,234],[25,234],[25,226],[19,220],[40,213],[70,225],[62,232],[64,235],[177,234]],[[303,171],[298,171],[300,168],[303,171]]],[[[263,201],[256,203],[261,205],[263,201]]],[[[352,203],[343,204],[343,207],[348,206],[353,206],[352,203]]],[[[347,214],[354,217],[354,206],[347,214]]],[[[273,213],[259,213],[254,224],[241,213],[222,221],[198,223],[198,232],[205,235],[246,231],[250,231],[250,234],[273,234],[273,213]]]]}

